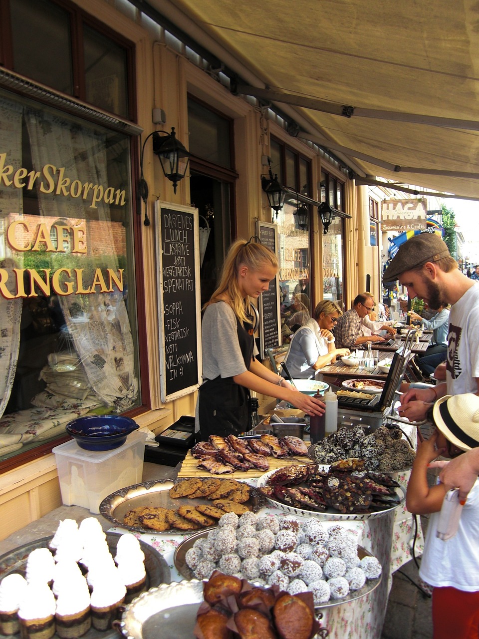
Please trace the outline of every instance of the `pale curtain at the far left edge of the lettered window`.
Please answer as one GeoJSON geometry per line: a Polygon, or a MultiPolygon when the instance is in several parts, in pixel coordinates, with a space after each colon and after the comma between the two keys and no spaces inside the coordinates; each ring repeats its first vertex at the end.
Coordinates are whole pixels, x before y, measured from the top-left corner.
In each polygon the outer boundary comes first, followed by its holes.
{"type": "MultiPolygon", "coordinates": [[[[22,109],[0,99],[0,152],[6,154],[5,164],[21,166],[22,160],[22,109]]],[[[8,219],[8,213],[22,213],[22,192],[20,189],[4,187],[0,189],[0,217],[8,219]]],[[[4,224],[0,221],[0,225],[4,224]]],[[[12,295],[16,293],[13,268],[22,268],[22,257],[11,255],[5,240],[6,228],[1,228],[0,268],[8,273],[6,288],[12,295]]],[[[22,300],[7,300],[0,295],[0,417],[10,399],[13,378],[17,370],[20,345],[20,319],[22,300]]]]}

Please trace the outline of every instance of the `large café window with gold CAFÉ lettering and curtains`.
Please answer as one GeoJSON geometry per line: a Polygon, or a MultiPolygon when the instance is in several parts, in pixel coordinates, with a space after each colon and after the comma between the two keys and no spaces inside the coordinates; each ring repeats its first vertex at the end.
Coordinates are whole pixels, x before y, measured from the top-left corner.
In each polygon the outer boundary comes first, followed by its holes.
{"type": "Polygon", "coordinates": [[[0,91],[0,461],[139,405],[130,138],[0,91]]]}

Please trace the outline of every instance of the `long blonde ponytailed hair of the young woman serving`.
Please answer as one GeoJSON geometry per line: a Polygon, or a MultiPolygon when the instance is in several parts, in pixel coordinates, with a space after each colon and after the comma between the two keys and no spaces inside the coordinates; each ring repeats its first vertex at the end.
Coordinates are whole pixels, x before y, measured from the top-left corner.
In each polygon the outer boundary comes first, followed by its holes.
{"type": "Polygon", "coordinates": [[[253,313],[252,303],[249,297],[243,302],[238,285],[239,268],[243,265],[254,272],[261,270],[264,266],[278,269],[278,258],[272,250],[260,242],[236,240],[229,248],[217,289],[209,298],[209,302],[203,306],[203,309],[206,309],[209,304],[215,304],[221,300],[226,293],[229,304],[239,321],[242,323],[248,321],[248,316],[253,313]]]}

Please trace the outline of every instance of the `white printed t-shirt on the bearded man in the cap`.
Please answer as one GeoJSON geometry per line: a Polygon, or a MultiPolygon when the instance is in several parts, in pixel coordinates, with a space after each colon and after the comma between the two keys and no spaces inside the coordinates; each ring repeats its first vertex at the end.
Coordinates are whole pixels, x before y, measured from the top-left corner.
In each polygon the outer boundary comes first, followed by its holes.
{"type": "Polygon", "coordinates": [[[479,284],[471,286],[449,316],[446,383],[448,395],[476,393],[479,377],[479,284]]]}

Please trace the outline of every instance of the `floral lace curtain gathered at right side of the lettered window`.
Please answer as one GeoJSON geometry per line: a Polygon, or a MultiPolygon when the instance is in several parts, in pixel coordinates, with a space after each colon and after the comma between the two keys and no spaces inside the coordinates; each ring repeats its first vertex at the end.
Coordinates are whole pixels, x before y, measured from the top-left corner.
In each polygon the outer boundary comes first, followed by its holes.
{"type": "MultiPolygon", "coordinates": [[[[26,109],[25,116],[36,171],[52,164],[65,167],[65,175],[71,180],[107,187],[103,135],[49,112],[26,109]]],[[[93,247],[90,242],[87,252],[98,258],[102,271],[111,268],[118,273],[108,204],[98,202],[97,208],[89,208],[89,203],[80,197],[52,197],[42,192],[38,192],[38,197],[43,216],[86,220],[87,228],[96,220],[103,222],[102,245],[93,247]]],[[[68,264],[68,256],[63,259],[68,264]]],[[[126,282],[123,284],[126,287],[126,282]]],[[[65,318],[67,344],[74,347],[93,392],[105,405],[121,412],[131,406],[138,394],[130,321],[121,291],[102,293],[99,287],[95,288],[96,292],[89,295],[58,296],[58,302],[65,318]]]]}

